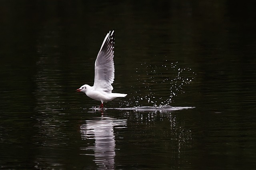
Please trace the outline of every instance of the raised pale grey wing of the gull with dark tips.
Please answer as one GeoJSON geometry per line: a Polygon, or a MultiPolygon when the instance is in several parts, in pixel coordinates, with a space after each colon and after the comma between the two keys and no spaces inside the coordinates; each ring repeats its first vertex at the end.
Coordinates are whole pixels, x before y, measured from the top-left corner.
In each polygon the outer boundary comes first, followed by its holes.
{"type": "Polygon", "coordinates": [[[111,93],[114,82],[114,35],[115,31],[110,31],[106,35],[95,61],[94,87],[111,93]]]}

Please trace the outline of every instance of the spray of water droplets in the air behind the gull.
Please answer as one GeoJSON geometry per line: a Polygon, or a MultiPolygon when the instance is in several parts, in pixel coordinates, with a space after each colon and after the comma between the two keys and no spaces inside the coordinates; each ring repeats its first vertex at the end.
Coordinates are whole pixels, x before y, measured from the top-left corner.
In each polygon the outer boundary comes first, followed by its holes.
{"type": "Polygon", "coordinates": [[[141,64],[136,68],[138,83],[134,88],[132,98],[124,101],[125,107],[141,107],[152,105],[154,108],[168,106],[173,98],[185,93],[183,87],[189,85],[195,78],[195,73],[188,67],[181,68],[176,63],[164,60],[158,65],[141,64]]]}

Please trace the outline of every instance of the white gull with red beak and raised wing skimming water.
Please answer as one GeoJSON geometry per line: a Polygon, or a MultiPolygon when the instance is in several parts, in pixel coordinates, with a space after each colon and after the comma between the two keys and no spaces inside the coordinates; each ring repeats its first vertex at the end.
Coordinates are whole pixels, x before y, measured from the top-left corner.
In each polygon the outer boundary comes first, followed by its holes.
{"type": "Polygon", "coordinates": [[[114,36],[115,31],[106,35],[95,61],[94,85],[82,85],[76,92],[84,92],[88,97],[103,103],[112,101],[116,97],[126,97],[127,94],[112,93],[114,82],[114,36]]]}

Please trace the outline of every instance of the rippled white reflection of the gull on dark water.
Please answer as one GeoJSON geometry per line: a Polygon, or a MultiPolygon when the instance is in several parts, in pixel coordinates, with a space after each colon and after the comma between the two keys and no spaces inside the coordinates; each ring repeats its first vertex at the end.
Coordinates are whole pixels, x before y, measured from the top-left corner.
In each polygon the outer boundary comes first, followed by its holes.
{"type": "Polygon", "coordinates": [[[116,156],[114,127],[125,128],[126,125],[126,119],[118,120],[111,117],[88,120],[81,125],[82,139],[95,139],[94,146],[81,149],[94,151],[94,161],[99,169],[114,169],[114,157],[116,156]]]}

